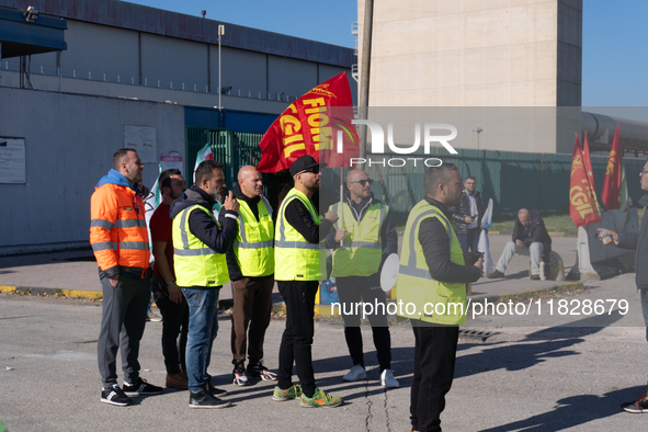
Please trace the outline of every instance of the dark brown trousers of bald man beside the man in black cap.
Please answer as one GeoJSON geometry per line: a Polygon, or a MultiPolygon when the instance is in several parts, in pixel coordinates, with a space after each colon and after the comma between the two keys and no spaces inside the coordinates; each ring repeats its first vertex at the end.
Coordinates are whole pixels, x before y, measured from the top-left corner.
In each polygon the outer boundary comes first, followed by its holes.
{"type": "Polygon", "coordinates": [[[254,365],[263,360],[263,340],[272,311],[273,275],[242,277],[231,283],[234,310],[231,312],[231,354],[235,366],[246,362],[254,365]],[[248,336],[248,326],[250,334],[248,336]],[[249,342],[249,343],[248,343],[249,342]]]}

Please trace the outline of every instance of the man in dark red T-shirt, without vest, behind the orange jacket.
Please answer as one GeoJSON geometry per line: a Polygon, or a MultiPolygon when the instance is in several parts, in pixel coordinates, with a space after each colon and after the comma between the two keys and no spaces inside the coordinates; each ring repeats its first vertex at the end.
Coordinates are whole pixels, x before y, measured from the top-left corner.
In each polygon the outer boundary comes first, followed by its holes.
{"type": "Polygon", "coordinates": [[[162,355],[167,367],[167,387],[186,390],[186,332],[189,307],[175,282],[173,271],[173,239],[171,236],[171,203],[186,191],[180,170],[162,171],[158,179],[162,202],[150,218],[149,228],[154,243],[154,277],[151,291],[162,314],[162,355]],[[180,340],[178,337],[180,336],[180,340]]]}

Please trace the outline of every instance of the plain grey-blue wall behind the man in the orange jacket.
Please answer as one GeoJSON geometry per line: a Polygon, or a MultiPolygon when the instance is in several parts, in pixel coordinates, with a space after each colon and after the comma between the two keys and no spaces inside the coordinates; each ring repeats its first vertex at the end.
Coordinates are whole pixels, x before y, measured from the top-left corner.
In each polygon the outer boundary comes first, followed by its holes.
{"type": "MultiPolygon", "coordinates": [[[[184,157],[179,105],[0,87],[0,136],[25,139],[26,183],[0,184],[0,253],[29,245],[88,241],[90,196],[124,146],[124,125],[156,128],[157,151],[184,157]],[[11,107],[11,109],[8,109],[11,107]]],[[[157,163],[146,164],[152,185],[157,163]]]]}

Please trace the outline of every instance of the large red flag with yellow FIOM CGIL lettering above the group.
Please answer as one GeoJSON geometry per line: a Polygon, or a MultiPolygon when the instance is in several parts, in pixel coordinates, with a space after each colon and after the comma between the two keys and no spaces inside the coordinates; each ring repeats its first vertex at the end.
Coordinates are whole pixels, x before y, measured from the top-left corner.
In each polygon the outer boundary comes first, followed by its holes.
{"type": "Polygon", "coordinates": [[[317,86],[270,126],[259,143],[262,155],[257,170],[277,172],[305,155],[329,167],[349,167],[350,159],[360,155],[352,106],[346,72],[317,86]]]}

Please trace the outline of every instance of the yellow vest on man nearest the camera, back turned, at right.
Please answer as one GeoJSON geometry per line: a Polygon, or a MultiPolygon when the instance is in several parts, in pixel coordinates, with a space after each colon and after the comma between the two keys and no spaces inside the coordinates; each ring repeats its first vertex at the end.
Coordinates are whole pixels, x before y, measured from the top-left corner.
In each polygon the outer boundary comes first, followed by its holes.
{"type": "Polygon", "coordinates": [[[433,280],[419,242],[421,223],[430,217],[439,219],[447,232],[451,261],[464,265],[462,248],[450,220],[443,212],[425,200],[418,203],[408,217],[400,255],[397,297],[398,302],[402,302],[405,306],[398,315],[441,325],[464,323],[466,284],[433,280]],[[408,309],[408,305],[410,306],[408,309]]]}

